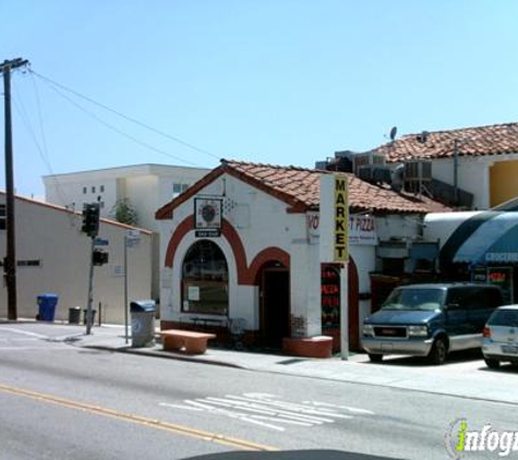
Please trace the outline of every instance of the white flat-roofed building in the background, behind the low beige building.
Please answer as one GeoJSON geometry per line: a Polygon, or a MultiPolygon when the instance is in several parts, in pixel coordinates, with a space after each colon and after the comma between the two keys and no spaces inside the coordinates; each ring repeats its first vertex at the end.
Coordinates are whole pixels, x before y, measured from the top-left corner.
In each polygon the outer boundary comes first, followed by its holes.
{"type": "Polygon", "coordinates": [[[44,177],[48,203],[82,211],[84,203],[100,203],[100,215],[113,218],[118,201],[136,210],[137,226],[155,233],[153,298],[159,296],[158,227],[155,210],[208,172],[204,168],[135,165],[44,177]]]}

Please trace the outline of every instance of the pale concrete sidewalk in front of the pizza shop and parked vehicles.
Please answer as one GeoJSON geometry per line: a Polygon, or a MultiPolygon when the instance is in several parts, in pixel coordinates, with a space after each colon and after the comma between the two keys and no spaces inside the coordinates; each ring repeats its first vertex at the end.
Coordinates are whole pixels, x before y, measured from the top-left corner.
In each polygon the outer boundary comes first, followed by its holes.
{"type": "MultiPolygon", "coordinates": [[[[79,326],[76,326],[79,327],[79,326]]],[[[481,358],[453,356],[442,366],[425,360],[396,356],[381,364],[373,364],[365,354],[353,354],[347,361],[305,359],[281,354],[264,354],[209,348],[205,354],[186,355],[164,351],[157,343],[149,348],[132,348],[127,343],[124,328],[120,326],[94,327],[93,335],[84,331],[71,334],[65,341],[75,346],[96,348],[142,356],[184,360],[237,368],[288,374],[360,385],[376,385],[405,390],[449,395],[485,401],[518,404],[518,372],[510,366],[491,371],[481,358]]]]}

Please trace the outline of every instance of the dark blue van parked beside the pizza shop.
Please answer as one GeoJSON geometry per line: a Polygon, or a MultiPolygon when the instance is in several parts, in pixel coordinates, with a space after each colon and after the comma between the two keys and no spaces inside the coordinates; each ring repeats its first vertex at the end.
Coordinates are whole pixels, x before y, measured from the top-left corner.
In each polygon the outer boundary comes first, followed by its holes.
{"type": "Polygon", "coordinates": [[[363,320],[362,347],[373,362],[409,354],[442,364],[449,351],[480,348],[485,322],[503,303],[492,285],[400,286],[363,320]]]}

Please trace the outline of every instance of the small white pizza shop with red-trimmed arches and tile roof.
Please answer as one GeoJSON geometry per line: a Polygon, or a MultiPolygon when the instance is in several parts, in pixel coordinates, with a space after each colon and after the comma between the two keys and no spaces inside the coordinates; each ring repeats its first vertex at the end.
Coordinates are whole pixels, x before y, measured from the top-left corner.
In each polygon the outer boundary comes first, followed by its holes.
{"type": "MultiPolygon", "coordinates": [[[[286,337],[339,335],[337,266],[321,263],[321,245],[332,238],[318,222],[322,174],[222,160],[162,206],[162,328],[202,324],[224,334],[228,319],[242,318],[251,340],[272,347],[286,337]]],[[[357,348],[380,240],[417,239],[414,217],[438,205],[344,177],[352,213],[349,342],[357,348]]]]}

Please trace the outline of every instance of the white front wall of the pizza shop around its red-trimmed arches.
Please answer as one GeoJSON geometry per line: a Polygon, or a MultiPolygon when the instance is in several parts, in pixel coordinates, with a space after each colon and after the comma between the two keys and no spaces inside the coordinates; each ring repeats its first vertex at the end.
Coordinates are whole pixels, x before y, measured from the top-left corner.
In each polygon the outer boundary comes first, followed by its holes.
{"type": "MultiPolygon", "coordinates": [[[[286,203],[260,192],[250,185],[224,175],[208,184],[198,195],[221,196],[226,193],[225,203],[229,211],[224,217],[238,230],[250,266],[254,257],[268,246],[280,247],[291,255],[291,312],[308,316],[309,299],[318,300],[320,312],[320,262],[317,250],[305,244],[308,235],[305,229],[305,215],[287,214],[286,203]],[[275,237],[275,241],[272,240],[275,237]],[[304,244],[302,243],[304,241],[304,244]],[[311,255],[313,254],[314,257],[311,255]],[[316,261],[316,264],[312,264],[316,261]],[[316,268],[315,268],[316,267],[316,268]],[[318,270],[310,282],[309,276],[313,270],[318,270]],[[313,280],[317,280],[313,282],[313,280]]],[[[167,246],[172,230],[184,218],[194,211],[193,199],[180,205],[173,211],[172,221],[161,221],[161,251],[160,261],[164,265],[167,246]]],[[[162,319],[176,320],[181,311],[181,265],[189,247],[196,241],[194,231],[190,232],[180,243],[172,269],[162,270],[161,299],[162,319]]],[[[244,317],[249,327],[258,328],[258,295],[257,288],[252,286],[238,286],[238,274],[234,255],[225,237],[215,238],[227,258],[229,267],[229,314],[231,317],[244,317]]],[[[314,274],[313,274],[314,275],[314,274]]],[[[313,304],[313,307],[315,304],[313,304]]]]}

